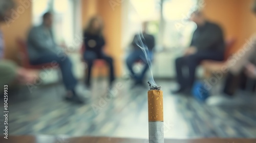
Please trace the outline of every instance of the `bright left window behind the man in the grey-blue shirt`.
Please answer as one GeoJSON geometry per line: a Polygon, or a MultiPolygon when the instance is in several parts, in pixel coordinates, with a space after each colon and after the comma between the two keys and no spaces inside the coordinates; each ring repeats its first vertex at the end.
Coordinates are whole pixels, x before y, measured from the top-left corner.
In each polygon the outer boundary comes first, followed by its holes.
{"type": "Polygon", "coordinates": [[[53,32],[56,42],[69,46],[72,45],[75,38],[81,37],[79,10],[80,0],[34,0],[33,24],[40,25],[41,16],[45,12],[51,11],[54,13],[53,32]]]}

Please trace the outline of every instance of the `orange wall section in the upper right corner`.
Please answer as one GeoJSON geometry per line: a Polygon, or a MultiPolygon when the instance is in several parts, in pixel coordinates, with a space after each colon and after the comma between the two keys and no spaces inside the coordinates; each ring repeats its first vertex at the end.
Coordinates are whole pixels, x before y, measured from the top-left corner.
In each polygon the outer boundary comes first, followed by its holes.
{"type": "Polygon", "coordinates": [[[236,38],[231,53],[243,47],[246,39],[256,32],[256,17],[251,12],[253,0],[205,0],[205,16],[220,24],[225,38],[236,38]]]}

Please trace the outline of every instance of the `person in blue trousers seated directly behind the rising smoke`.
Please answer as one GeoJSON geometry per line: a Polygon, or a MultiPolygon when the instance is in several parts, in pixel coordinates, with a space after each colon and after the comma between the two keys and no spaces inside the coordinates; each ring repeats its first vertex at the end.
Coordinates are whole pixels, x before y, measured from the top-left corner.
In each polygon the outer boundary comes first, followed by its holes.
{"type": "Polygon", "coordinates": [[[134,36],[132,45],[132,52],[128,55],[126,59],[126,65],[131,72],[132,78],[135,80],[135,85],[143,85],[143,79],[145,77],[146,71],[148,69],[147,59],[141,47],[148,48],[148,58],[152,61],[153,59],[153,49],[155,47],[155,38],[153,35],[147,33],[148,22],[142,23],[142,33],[138,33],[134,36]],[[142,42],[142,43],[141,43],[142,42]],[[144,44],[144,45],[141,45],[144,44]],[[133,65],[137,61],[142,61],[145,65],[140,74],[135,74],[133,70],[133,65]]]}

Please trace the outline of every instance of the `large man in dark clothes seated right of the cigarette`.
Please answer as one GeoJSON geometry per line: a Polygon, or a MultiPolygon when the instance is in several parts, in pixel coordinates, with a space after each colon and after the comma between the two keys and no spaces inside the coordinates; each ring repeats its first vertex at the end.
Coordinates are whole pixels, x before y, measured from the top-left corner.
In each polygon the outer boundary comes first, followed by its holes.
{"type": "Polygon", "coordinates": [[[177,81],[180,87],[173,93],[190,93],[195,81],[196,68],[201,61],[222,61],[224,59],[225,44],[222,29],[216,23],[207,21],[199,10],[191,14],[190,20],[196,23],[197,29],[184,56],[175,61],[177,81]],[[182,72],[184,67],[189,70],[188,76],[182,72]]]}

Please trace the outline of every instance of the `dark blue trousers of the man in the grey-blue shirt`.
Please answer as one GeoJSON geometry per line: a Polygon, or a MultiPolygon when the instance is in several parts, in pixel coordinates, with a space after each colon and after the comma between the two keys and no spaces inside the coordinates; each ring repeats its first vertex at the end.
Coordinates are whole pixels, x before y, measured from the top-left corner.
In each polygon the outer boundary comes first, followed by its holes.
{"type": "MultiPolygon", "coordinates": [[[[58,63],[62,73],[62,80],[67,90],[73,90],[77,84],[72,72],[72,63],[68,56],[57,56],[55,53],[42,53],[37,59],[30,61],[32,65],[58,63]]],[[[44,67],[42,67],[44,68],[44,67]]]]}

